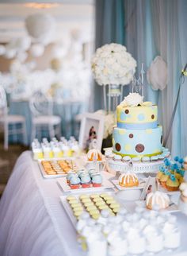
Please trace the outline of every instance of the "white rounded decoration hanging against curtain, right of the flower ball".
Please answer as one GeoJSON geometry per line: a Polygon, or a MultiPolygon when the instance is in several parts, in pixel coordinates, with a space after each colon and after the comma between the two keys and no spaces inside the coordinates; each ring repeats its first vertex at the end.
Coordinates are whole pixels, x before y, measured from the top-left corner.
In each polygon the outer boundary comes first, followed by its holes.
{"type": "Polygon", "coordinates": [[[167,65],[161,56],[156,56],[147,70],[147,82],[153,90],[163,90],[167,85],[167,65]]]}

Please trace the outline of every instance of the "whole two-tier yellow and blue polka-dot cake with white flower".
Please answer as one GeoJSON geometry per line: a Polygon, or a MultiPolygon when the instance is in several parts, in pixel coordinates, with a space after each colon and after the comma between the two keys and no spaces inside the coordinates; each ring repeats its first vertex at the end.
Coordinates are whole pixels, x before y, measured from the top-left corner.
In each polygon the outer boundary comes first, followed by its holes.
{"type": "Polygon", "coordinates": [[[116,107],[117,126],[113,128],[113,152],[121,156],[152,157],[162,153],[162,126],[157,123],[158,109],[130,93],[116,107]]]}

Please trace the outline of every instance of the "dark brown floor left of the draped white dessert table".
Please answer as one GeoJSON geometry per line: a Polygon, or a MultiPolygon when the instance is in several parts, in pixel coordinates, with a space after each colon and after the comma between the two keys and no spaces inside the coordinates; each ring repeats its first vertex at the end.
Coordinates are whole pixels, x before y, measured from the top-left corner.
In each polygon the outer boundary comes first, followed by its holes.
{"type": "Polygon", "coordinates": [[[17,157],[27,149],[29,149],[29,147],[23,145],[9,145],[9,149],[7,151],[4,150],[3,138],[2,135],[0,135],[0,196],[6,187],[13,166],[17,161],[17,157]]]}

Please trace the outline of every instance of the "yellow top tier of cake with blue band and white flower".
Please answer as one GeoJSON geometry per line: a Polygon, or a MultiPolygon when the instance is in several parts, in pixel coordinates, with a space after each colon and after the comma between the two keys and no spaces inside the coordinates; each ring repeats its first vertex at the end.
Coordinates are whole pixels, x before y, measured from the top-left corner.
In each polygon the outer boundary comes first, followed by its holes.
{"type": "Polygon", "coordinates": [[[149,129],[157,127],[158,109],[143,96],[130,93],[116,107],[117,126],[124,129],[149,129]]]}

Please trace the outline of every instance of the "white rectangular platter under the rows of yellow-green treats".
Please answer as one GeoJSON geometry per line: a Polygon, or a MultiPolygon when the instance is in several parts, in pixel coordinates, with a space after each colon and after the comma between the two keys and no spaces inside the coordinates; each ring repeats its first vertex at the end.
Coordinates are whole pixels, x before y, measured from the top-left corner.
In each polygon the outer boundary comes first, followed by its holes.
{"type": "MultiPolygon", "coordinates": [[[[94,193],[94,192],[93,192],[94,193]]],[[[86,194],[88,194],[88,195],[91,195],[91,194],[93,194],[93,193],[86,193],[86,194]]],[[[113,196],[114,197],[114,199],[116,199],[116,196],[115,196],[115,193],[114,192],[106,192],[107,194],[109,194],[109,195],[111,195],[111,196],[113,196]]],[[[82,193],[82,194],[84,194],[84,193],[82,193]]],[[[82,195],[81,194],[81,195],[82,195]]],[[[95,194],[95,193],[94,193],[95,194]]],[[[100,193],[98,193],[98,192],[96,192],[96,194],[100,194],[100,193]]],[[[77,199],[78,199],[78,196],[80,196],[80,194],[78,194],[78,195],[74,195],[77,199]]],[[[68,215],[68,217],[70,218],[70,220],[71,220],[71,223],[73,224],[73,226],[74,226],[74,228],[76,228],[76,224],[77,224],[77,219],[74,217],[74,214],[73,214],[73,211],[72,211],[72,209],[71,209],[71,206],[70,206],[70,204],[68,204],[68,202],[67,202],[67,196],[59,196],[59,198],[60,198],[60,201],[61,201],[61,203],[63,204],[63,208],[65,209],[65,211],[67,212],[67,215],[68,215]]],[[[117,199],[116,199],[117,200],[117,199]]],[[[118,200],[117,200],[118,201],[118,200]]],[[[119,202],[119,201],[118,201],[119,202]]],[[[120,204],[121,205],[121,204],[120,204]]],[[[121,205],[123,208],[124,208],[124,206],[123,205],[121,205]]],[[[84,212],[87,212],[86,210],[84,211],[84,212]]]]}

